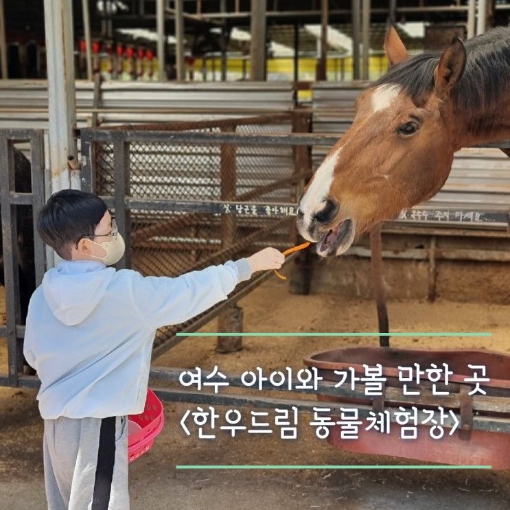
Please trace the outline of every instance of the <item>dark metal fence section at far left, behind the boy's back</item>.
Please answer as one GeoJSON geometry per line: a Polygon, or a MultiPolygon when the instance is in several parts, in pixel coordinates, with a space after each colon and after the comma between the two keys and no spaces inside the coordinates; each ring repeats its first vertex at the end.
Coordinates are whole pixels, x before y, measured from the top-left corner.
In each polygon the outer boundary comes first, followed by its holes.
{"type": "Polygon", "coordinates": [[[45,272],[43,241],[34,236],[34,211],[44,205],[44,163],[42,131],[0,130],[1,255],[6,312],[0,338],[6,339],[8,353],[7,373],[0,373],[0,386],[18,386],[23,377],[23,315],[30,289],[42,281],[45,272]],[[28,159],[19,150],[22,146],[28,159]]]}

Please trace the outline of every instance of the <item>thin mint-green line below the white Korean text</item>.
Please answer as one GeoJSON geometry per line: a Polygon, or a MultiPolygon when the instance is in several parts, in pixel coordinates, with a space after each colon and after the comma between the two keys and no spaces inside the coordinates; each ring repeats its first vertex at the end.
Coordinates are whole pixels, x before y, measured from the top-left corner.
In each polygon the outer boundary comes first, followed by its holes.
{"type": "Polygon", "coordinates": [[[176,465],[178,470],[491,470],[491,465],[176,465]]]}

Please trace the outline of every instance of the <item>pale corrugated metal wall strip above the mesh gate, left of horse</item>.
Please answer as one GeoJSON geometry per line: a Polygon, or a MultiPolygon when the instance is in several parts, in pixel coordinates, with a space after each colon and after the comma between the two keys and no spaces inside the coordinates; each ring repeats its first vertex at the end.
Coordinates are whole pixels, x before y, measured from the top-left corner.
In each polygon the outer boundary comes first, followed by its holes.
{"type": "MultiPolygon", "coordinates": [[[[0,81],[0,128],[48,128],[44,81],[0,81]]],[[[78,127],[90,125],[93,83],[76,82],[78,127]]],[[[285,82],[207,82],[192,84],[104,82],[102,124],[221,119],[290,111],[292,84],[285,82]]]]}

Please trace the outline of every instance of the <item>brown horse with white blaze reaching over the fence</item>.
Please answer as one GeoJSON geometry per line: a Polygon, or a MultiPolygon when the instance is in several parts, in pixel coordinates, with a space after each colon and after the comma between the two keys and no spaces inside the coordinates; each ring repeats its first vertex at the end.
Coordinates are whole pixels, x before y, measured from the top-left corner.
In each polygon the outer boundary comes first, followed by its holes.
{"type": "Polygon", "coordinates": [[[456,150],[510,139],[510,28],[413,58],[391,28],[384,51],[391,69],[358,97],[299,200],[299,232],[319,255],[436,194],[456,150]]]}

